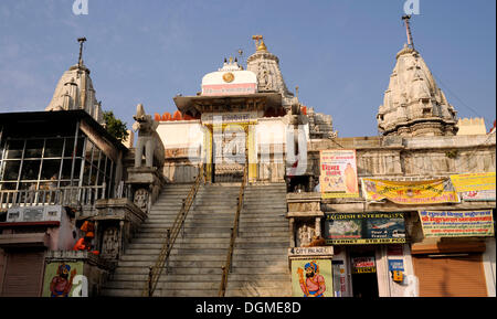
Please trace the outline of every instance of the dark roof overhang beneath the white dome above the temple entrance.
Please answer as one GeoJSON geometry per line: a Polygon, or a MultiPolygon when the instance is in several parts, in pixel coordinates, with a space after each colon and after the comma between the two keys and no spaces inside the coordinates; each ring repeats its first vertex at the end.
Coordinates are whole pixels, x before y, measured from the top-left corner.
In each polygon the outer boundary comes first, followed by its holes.
{"type": "Polygon", "coordinates": [[[182,114],[192,116],[203,113],[222,111],[255,111],[283,109],[282,95],[279,93],[255,93],[247,95],[223,96],[176,96],[176,106],[182,114]]]}

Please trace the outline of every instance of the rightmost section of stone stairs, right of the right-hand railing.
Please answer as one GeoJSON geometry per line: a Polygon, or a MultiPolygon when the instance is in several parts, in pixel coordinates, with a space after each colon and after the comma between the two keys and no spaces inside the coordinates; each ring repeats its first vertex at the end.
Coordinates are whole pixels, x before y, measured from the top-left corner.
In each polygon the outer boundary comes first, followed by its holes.
{"type": "Polygon", "coordinates": [[[248,185],[226,297],[292,297],[286,185],[248,185]]]}

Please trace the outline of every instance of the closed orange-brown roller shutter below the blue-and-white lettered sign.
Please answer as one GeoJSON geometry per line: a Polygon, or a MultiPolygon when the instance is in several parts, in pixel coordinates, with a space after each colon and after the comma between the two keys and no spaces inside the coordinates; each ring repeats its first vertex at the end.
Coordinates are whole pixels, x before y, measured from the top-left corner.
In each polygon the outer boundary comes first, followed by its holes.
{"type": "Polygon", "coordinates": [[[482,254],[415,255],[420,297],[487,297],[482,254]]]}

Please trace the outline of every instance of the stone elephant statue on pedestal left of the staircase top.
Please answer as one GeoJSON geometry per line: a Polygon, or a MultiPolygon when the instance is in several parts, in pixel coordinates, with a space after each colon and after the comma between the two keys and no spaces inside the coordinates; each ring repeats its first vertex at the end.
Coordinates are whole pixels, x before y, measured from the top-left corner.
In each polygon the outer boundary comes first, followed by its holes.
{"type": "Polygon", "coordinates": [[[162,168],[165,162],[165,148],[156,129],[159,126],[150,115],[145,114],[144,105],[138,104],[136,121],[133,129],[138,131],[138,140],[135,150],[135,168],[142,167],[141,157],[145,153],[145,167],[162,168]]]}

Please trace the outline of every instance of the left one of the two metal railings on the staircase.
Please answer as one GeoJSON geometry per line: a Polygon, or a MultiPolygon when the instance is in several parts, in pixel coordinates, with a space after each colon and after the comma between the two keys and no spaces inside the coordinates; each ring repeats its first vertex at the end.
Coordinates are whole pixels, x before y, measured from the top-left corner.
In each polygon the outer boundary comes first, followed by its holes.
{"type": "Polygon", "coordinates": [[[201,182],[204,182],[204,173],[203,173],[203,164],[200,164],[199,174],[197,176],[195,182],[190,189],[188,196],[183,200],[180,211],[176,216],[175,223],[171,228],[168,228],[166,232],[166,237],[163,238],[162,248],[160,249],[160,254],[157,258],[157,262],[154,266],[149,267],[148,280],[144,287],[141,293],[142,297],[152,297],[154,291],[157,288],[157,284],[159,281],[160,275],[167,265],[169,259],[169,255],[171,254],[172,247],[175,246],[176,238],[183,227],[184,221],[187,219],[188,212],[195,199],[197,192],[199,191],[201,182]]]}

